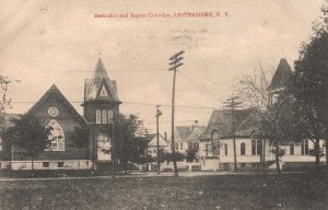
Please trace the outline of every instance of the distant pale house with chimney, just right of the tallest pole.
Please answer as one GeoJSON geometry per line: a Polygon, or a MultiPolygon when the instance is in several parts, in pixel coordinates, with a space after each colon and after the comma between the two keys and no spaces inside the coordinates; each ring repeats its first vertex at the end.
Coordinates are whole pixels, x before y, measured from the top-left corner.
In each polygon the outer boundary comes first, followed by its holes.
{"type": "Polygon", "coordinates": [[[204,126],[198,126],[198,121],[191,126],[175,127],[175,151],[184,154],[188,149],[199,151],[199,143],[204,129],[204,126]]]}

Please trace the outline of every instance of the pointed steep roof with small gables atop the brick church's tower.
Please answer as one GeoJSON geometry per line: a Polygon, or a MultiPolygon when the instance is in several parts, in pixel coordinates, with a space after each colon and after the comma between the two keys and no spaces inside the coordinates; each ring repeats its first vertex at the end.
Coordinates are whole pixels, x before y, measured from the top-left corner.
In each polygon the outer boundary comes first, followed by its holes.
{"type": "Polygon", "coordinates": [[[117,96],[116,82],[109,79],[101,58],[96,65],[93,78],[85,80],[84,83],[84,102],[95,100],[120,103],[117,96]],[[108,96],[106,98],[98,98],[98,93],[103,89],[104,83],[106,84],[106,89],[108,89],[108,96]]]}

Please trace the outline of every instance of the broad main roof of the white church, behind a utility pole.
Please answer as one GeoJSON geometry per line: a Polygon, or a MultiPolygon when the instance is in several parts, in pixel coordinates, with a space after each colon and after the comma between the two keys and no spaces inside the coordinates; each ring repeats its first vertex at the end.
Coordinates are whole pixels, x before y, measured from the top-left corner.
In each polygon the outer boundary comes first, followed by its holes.
{"type": "MultiPolygon", "coordinates": [[[[235,110],[235,136],[250,136],[258,130],[258,120],[254,108],[235,110]]],[[[206,129],[204,137],[210,138],[213,131],[218,131],[220,138],[229,138],[233,135],[232,115],[229,110],[214,110],[206,129]]]]}

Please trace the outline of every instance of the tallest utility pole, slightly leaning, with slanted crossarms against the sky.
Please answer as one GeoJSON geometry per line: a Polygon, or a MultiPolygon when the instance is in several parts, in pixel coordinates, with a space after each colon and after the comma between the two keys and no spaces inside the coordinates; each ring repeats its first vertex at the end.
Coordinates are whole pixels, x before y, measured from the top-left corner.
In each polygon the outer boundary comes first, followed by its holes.
{"type": "Polygon", "coordinates": [[[173,70],[173,89],[172,89],[172,155],[173,155],[173,170],[174,170],[174,176],[178,176],[178,171],[177,171],[177,165],[176,165],[176,158],[175,158],[175,142],[174,142],[174,98],[175,98],[175,78],[176,78],[176,70],[177,68],[179,68],[180,66],[183,66],[183,62],[179,62],[184,59],[184,57],[179,57],[180,55],[183,55],[185,51],[181,50],[177,54],[175,54],[174,56],[172,56],[169,58],[171,62],[169,65],[172,66],[168,70],[172,71],[173,70]]]}

